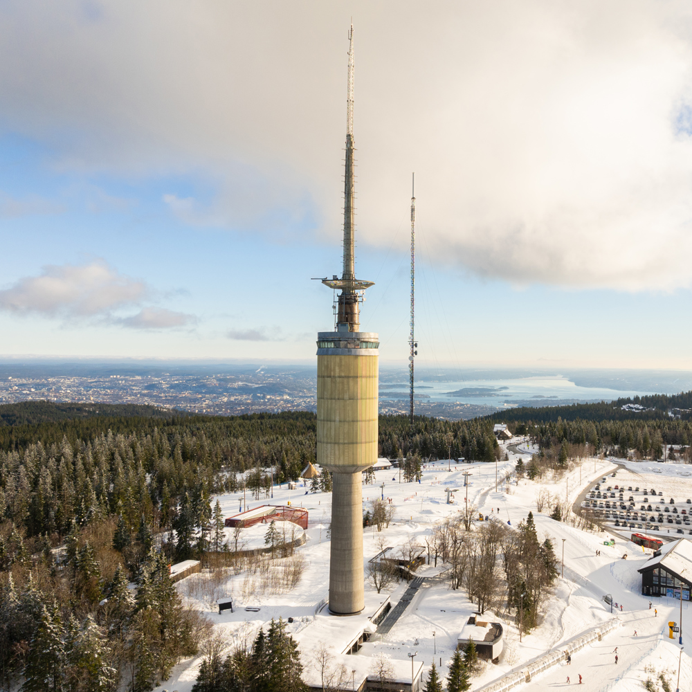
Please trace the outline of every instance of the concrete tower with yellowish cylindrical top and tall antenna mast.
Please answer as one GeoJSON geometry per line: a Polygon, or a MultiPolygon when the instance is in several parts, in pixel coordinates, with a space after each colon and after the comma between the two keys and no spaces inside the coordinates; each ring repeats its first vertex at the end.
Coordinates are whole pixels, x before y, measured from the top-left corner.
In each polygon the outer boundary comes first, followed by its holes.
{"type": "Polygon", "coordinates": [[[361,331],[360,303],[372,281],[354,271],[353,26],[349,32],[343,273],[322,283],[340,291],[334,331],[318,332],[317,461],[334,473],[329,610],[363,610],[361,473],[377,461],[378,335],[361,331]]]}

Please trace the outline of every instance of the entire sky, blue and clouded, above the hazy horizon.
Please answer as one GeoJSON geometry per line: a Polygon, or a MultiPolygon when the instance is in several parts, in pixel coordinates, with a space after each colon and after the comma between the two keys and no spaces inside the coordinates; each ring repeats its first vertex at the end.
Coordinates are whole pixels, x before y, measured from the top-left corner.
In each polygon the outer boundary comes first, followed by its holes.
{"type": "Polygon", "coordinates": [[[690,366],[684,6],[536,2],[513,23],[455,3],[392,27],[367,3],[173,5],[0,6],[1,355],[312,358],[353,13],[356,273],[381,358],[406,358],[416,170],[421,367],[690,366]]]}

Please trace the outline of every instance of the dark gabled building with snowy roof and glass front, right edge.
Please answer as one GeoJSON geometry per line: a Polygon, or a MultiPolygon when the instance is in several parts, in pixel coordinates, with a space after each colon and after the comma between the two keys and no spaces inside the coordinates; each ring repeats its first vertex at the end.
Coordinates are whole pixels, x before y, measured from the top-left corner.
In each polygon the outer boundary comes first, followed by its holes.
{"type": "Polygon", "coordinates": [[[674,540],[657,550],[641,567],[641,594],[689,601],[692,589],[692,542],[674,540]]]}

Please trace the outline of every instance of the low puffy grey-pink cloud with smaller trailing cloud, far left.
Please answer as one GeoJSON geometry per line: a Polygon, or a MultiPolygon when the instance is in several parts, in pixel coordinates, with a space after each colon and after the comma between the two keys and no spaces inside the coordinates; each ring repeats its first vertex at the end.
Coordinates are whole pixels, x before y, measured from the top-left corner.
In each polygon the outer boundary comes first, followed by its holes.
{"type": "Polygon", "coordinates": [[[92,260],[48,265],[38,276],[22,277],[0,291],[0,310],[65,320],[91,318],[135,329],[167,329],[194,322],[192,315],[149,306],[131,316],[118,316],[122,309],[141,306],[151,294],[145,282],[118,273],[103,260],[92,260]]]}

